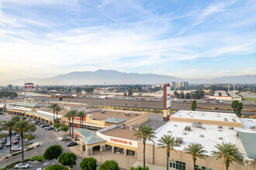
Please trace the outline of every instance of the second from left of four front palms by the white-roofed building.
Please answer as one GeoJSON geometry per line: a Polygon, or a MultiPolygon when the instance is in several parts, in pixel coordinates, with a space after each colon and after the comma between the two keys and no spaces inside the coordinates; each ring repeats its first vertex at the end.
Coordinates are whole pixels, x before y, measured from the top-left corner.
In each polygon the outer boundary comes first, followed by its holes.
{"type": "MultiPolygon", "coordinates": [[[[175,140],[174,137],[172,137],[170,134],[164,134],[157,143],[158,148],[166,148],[166,155],[167,155],[167,170],[169,169],[169,157],[171,151],[176,151],[174,147],[180,146],[178,142],[175,140]]],[[[176,151],[177,152],[177,151],[176,151]]]]}

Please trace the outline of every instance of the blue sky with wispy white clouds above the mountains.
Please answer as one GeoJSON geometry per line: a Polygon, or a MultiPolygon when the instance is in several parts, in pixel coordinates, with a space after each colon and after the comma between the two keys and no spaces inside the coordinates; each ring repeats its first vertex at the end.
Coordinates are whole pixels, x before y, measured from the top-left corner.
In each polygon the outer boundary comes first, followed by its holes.
{"type": "Polygon", "coordinates": [[[0,80],[256,74],[255,0],[0,0],[0,80]]]}

